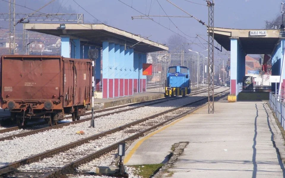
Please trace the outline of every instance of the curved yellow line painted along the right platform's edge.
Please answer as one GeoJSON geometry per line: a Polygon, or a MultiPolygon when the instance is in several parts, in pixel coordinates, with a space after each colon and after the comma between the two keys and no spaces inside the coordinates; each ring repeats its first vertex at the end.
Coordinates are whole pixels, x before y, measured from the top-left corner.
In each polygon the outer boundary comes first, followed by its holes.
{"type": "MultiPolygon", "coordinates": [[[[194,111],[194,112],[195,112],[195,111],[194,111]]],[[[194,112],[193,112],[193,113],[194,113],[194,112]]],[[[190,113],[190,114],[188,114],[188,115],[191,115],[191,114],[192,114],[192,113],[190,113]]],[[[188,116],[188,115],[186,115],[186,116],[188,116]]],[[[146,137],[140,139],[140,141],[138,141],[138,142],[134,145],[134,147],[133,147],[132,150],[129,152],[129,154],[125,156],[125,158],[124,158],[124,164],[126,164],[126,163],[129,162],[129,160],[131,159],[131,157],[132,157],[132,155],[134,154],[134,152],[140,147],[140,145],[141,145],[146,139],[148,139],[149,137],[153,136],[153,135],[156,134],[156,133],[159,133],[159,132],[163,131],[164,129],[170,127],[171,125],[174,125],[175,123],[178,123],[179,121],[183,120],[186,116],[181,117],[180,119],[175,120],[174,122],[172,122],[172,123],[170,123],[170,124],[168,124],[168,125],[165,125],[164,127],[158,129],[157,131],[154,131],[153,133],[149,134],[148,136],[146,136],[146,137]]]]}

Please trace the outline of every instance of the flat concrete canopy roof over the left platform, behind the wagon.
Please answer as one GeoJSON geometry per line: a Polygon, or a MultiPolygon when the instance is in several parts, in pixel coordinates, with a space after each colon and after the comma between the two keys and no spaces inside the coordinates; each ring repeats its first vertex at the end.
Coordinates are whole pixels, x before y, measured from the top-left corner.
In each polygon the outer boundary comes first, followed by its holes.
{"type": "Polygon", "coordinates": [[[70,36],[70,38],[80,39],[86,44],[101,45],[103,41],[126,44],[127,47],[133,47],[134,50],[150,53],[155,51],[168,50],[168,47],[139,35],[129,33],[118,28],[107,26],[105,24],[64,24],[62,29],[60,24],[51,23],[26,23],[24,29],[36,31],[43,34],[54,36],[70,36]]]}

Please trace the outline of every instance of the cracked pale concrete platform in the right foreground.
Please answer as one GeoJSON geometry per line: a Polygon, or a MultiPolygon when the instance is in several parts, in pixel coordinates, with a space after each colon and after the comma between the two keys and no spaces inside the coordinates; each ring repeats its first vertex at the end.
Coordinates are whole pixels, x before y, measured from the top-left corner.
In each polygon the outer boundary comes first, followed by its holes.
{"type": "Polygon", "coordinates": [[[168,170],[174,178],[285,177],[284,140],[266,101],[221,100],[206,113],[208,105],[137,140],[125,164],[163,163],[172,144],[189,142],[168,170]]]}

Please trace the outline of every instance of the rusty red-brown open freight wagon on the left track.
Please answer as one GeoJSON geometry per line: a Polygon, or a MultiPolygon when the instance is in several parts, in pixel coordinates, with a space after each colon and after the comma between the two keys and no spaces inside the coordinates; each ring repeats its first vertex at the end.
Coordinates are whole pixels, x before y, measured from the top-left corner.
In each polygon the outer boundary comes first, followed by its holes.
{"type": "Polygon", "coordinates": [[[79,120],[90,105],[92,61],[47,55],[2,55],[3,109],[18,125],[44,118],[56,125],[64,113],[79,120]]]}

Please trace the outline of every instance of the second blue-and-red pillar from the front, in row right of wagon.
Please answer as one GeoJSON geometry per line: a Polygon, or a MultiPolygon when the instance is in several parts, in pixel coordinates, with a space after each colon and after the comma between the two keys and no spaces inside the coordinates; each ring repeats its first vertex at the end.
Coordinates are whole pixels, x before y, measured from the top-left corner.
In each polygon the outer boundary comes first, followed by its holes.
{"type": "Polygon", "coordinates": [[[109,98],[114,98],[114,78],[115,78],[115,43],[109,43],[109,98]]]}

